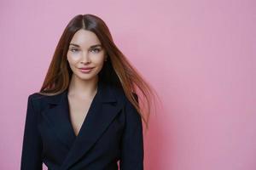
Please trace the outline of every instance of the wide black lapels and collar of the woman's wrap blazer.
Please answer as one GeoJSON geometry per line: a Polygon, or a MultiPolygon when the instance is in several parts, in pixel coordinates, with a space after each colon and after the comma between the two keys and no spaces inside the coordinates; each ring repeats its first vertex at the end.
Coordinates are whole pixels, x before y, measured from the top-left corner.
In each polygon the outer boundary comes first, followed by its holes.
{"type": "Polygon", "coordinates": [[[75,136],[69,119],[67,90],[47,98],[49,109],[42,112],[48,122],[46,128],[51,128],[53,135],[69,150],[61,165],[63,170],[71,167],[90,150],[124,105],[123,99],[120,98],[122,95],[117,88],[101,81],[98,82],[97,87],[97,93],[78,136],[75,136]]]}

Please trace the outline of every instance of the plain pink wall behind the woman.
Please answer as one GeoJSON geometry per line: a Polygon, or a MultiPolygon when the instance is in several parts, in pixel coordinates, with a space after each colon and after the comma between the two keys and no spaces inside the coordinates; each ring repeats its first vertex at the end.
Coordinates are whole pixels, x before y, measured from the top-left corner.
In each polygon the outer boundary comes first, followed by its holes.
{"type": "Polygon", "coordinates": [[[253,0],[2,0],[0,169],[19,169],[28,94],[41,88],[76,14],[106,21],[159,93],[144,136],[146,170],[256,168],[253,0]]]}

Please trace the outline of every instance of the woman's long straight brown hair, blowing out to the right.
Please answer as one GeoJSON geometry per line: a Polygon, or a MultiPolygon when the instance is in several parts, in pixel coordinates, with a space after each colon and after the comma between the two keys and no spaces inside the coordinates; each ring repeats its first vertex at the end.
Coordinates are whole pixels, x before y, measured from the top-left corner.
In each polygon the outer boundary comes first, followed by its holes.
{"type": "Polygon", "coordinates": [[[69,21],[55,48],[53,59],[50,62],[43,86],[38,94],[61,94],[68,88],[73,71],[67,62],[67,50],[73,35],[80,29],[94,32],[108,54],[108,60],[104,62],[102,71],[99,72],[99,78],[103,82],[123,88],[125,96],[135,106],[140,116],[142,116],[148,129],[148,118],[152,108],[152,99],[154,99],[153,96],[156,93],[153,93],[154,89],[149,86],[148,82],[143,79],[140,73],[114,44],[108,26],[102,19],[93,14],[78,14],[69,21]],[[133,95],[133,93],[137,94],[137,89],[140,90],[141,97],[138,97],[139,95],[133,95]],[[137,97],[138,99],[146,99],[143,102],[143,104],[147,104],[145,111],[141,110],[137,102],[137,97]]]}

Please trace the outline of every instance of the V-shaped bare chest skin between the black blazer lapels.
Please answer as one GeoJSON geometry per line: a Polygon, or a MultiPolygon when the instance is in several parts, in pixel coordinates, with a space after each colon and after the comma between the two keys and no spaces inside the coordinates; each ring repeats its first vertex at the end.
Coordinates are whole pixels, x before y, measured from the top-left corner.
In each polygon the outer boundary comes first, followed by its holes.
{"type": "Polygon", "coordinates": [[[73,126],[73,131],[76,136],[82,127],[84,119],[89,111],[92,99],[78,99],[68,96],[70,121],[73,126]]]}

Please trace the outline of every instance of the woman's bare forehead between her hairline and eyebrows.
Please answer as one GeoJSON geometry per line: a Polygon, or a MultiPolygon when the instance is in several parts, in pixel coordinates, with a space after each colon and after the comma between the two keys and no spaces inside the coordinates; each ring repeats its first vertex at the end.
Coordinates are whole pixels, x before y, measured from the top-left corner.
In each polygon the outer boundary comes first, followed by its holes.
{"type": "Polygon", "coordinates": [[[81,29],[77,31],[70,43],[78,44],[80,47],[90,47],[91,45],[101,44],[100,40],[93,31],[81,29]]]}

